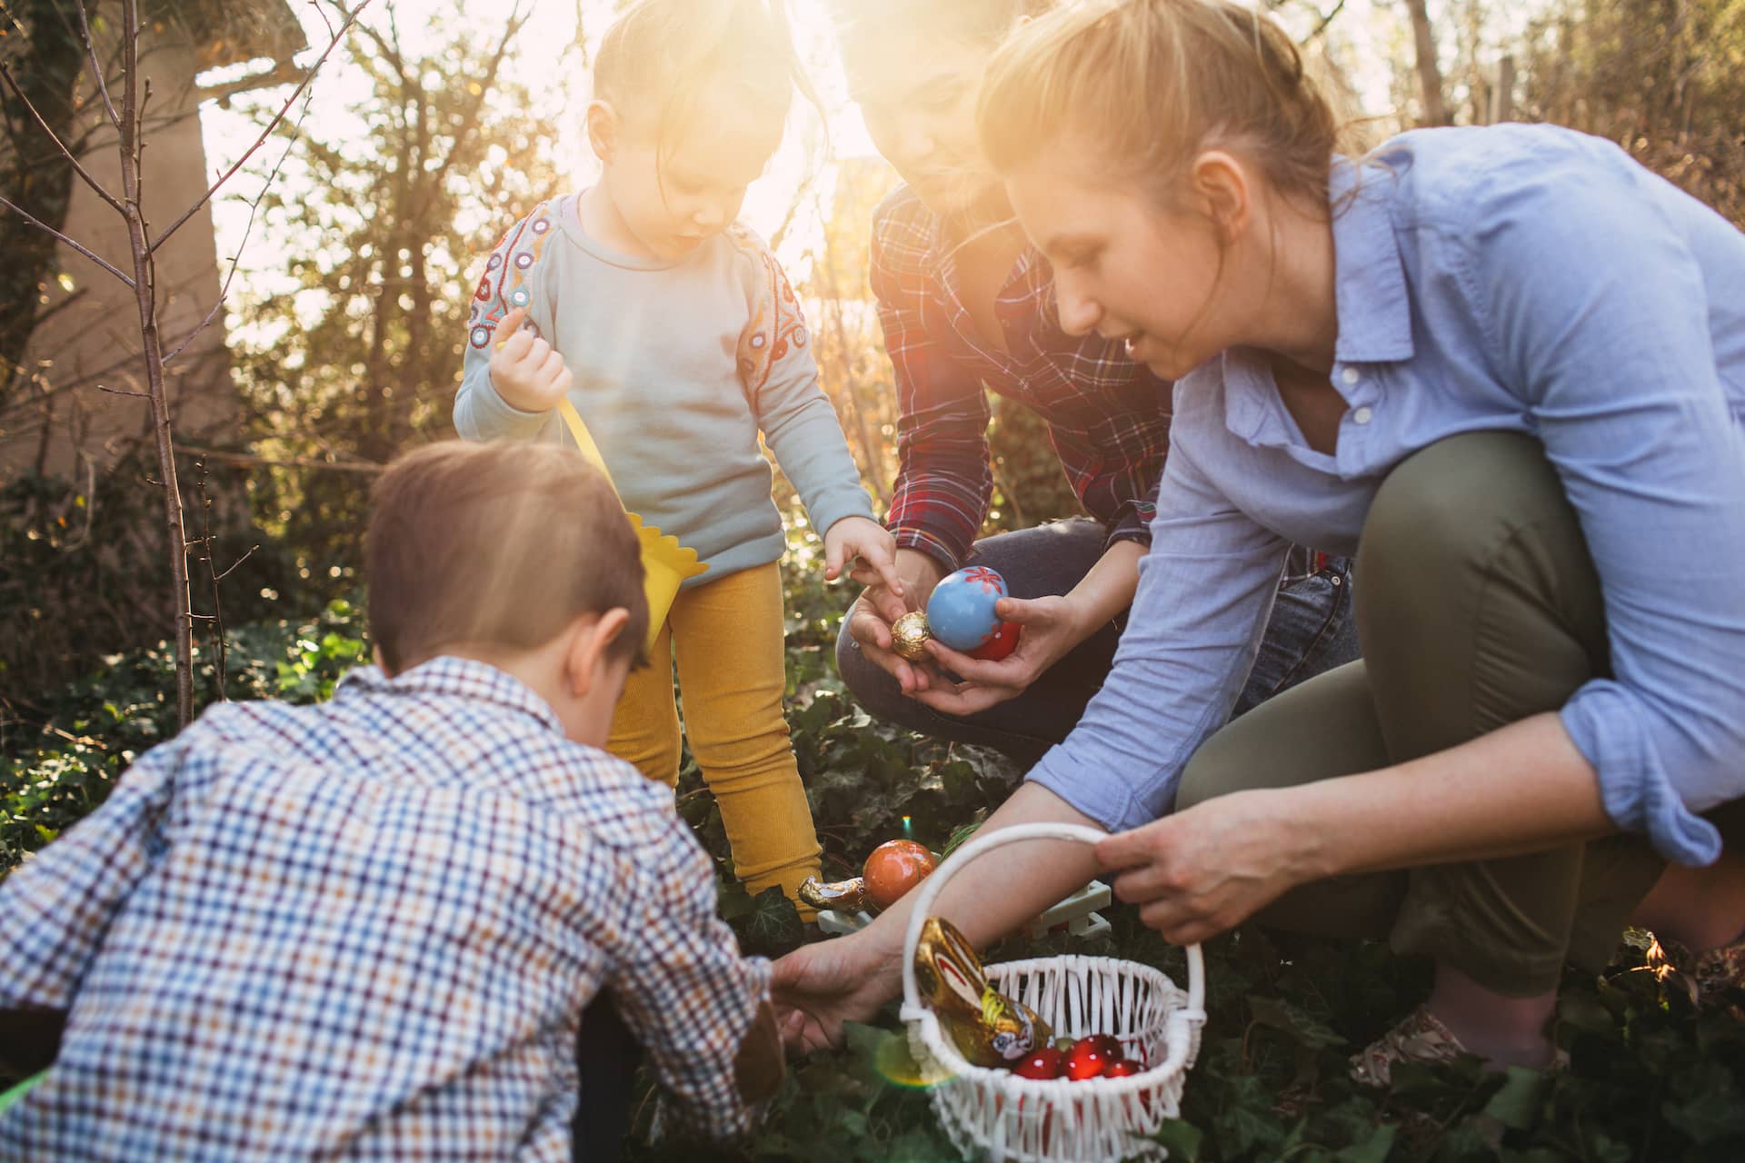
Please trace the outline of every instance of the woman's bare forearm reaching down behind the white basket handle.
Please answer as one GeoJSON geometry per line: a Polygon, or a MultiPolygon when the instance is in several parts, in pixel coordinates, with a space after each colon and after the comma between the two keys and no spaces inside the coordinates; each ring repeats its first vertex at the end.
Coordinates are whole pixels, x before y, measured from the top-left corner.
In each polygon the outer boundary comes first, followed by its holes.
{"type": "MultiPolygon", "coordinates": [[[[1026,783],[977,830],[986,835],[1021,823],[1098,823],[1047,788],[1026,783]]],[[[949,919],[977,949],[1035,919],[1063,896],[1084,888],[1098,874],[1096,849],[1075,840],[1030,840],[1002,847],[975,860],[951,877],[934,901],[937,915],[949,919]]],[[[916,896],[899,900],[867,926],[862,936],[892,971],[900,968],[902,942],[916,896]]],[[[900,987],[890,976],[890,992],[900,987]]]]}

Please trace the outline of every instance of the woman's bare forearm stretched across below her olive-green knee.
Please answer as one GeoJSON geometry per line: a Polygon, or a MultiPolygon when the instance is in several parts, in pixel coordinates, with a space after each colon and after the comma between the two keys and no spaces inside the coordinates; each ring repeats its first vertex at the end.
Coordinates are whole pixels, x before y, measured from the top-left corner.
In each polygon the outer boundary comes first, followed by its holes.
{"type": "Polygon", "coordinates": [[[1515,856],[1618,830],[1555,713],[1277,795],[1276,809],[1310,846],[1298,881],[1515,856]]]}

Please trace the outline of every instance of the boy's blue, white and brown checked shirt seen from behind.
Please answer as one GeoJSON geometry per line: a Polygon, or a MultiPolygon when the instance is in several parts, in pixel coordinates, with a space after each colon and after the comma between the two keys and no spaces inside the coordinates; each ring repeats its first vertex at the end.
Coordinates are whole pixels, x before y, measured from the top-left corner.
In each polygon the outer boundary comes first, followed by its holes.
{"type": "Polygon", "coordinates": [[[454,657],[206,711],[0,882],[0,1006],[70,1010],[0,1116],[28,1160],[569,1160],[606,985],[733,1133],[770,980],[672,793],[454,657]]]}

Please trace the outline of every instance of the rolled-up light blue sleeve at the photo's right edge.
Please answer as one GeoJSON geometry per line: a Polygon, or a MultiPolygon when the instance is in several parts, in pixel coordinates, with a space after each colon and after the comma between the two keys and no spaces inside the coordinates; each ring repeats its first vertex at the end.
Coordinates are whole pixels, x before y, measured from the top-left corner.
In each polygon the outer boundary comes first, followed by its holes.
{"type": "Polygon", "coordinates": [[[1616,162],[1598,181],[1553,160],[1537,185],[1482,199],[1480,228],[1445,246],[1605,596],[1612,675],[1562,722],[1619,828],[1708,863],[1721,837],[1696,813],[1745,795],[1745,446],[1691,223],[1623,188],[1658,178],[1616,162]]]}

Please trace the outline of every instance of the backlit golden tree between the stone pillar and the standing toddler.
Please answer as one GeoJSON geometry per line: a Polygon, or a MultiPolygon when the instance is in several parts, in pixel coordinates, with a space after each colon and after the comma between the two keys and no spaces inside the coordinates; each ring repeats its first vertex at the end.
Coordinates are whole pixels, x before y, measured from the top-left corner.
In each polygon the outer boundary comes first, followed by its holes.
{"type": "Polygon", "coordinates": [[[435,24],[429,52],[403,47],[391,9],[351,35],[368,92],[297,145],[262,207],[283,262],[237,316],[251,445],[281,462],[257,476],[257,513],[318,593],[354,584],[370,469],[454,434],[478,267],[558,192],[555,126],[513,78],[524,16],[490,38],[459,5],[435,24]]]}

